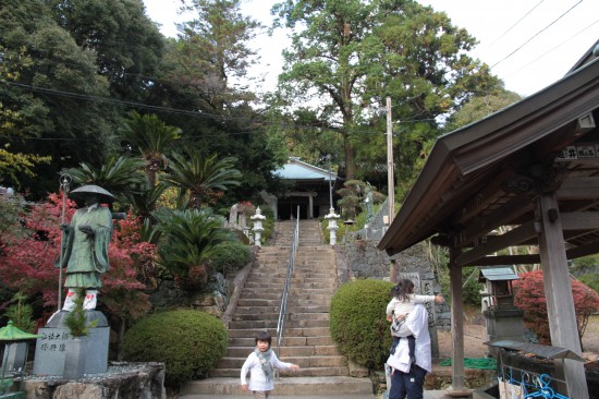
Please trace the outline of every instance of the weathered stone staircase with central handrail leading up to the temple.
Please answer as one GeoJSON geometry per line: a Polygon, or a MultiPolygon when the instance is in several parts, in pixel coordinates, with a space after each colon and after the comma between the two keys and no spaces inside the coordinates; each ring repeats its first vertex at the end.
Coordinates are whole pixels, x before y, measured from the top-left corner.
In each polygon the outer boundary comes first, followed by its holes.
{"type": "MultiPolygon", "coordinates": [[[[229,323],[225,356],[210,378],[183,386],[181,398],[240,395],[241,367],[255,348],[257,330],[268,330],[273,337],[272,348],[277,350],[277,324],[294,227],[295,221],[279,222],[276,246],[259,250],[229,323]]],[[[334,251],[321,244],[316,220],[301,220],[300,231],[285,334],[278,355],[282,361],[300,365],[301,370],[281,371],[274,394],[371,396],[369,378],[349,376],[347,360],[338,352],[329,331],[329,306],[338,286],[334,251]]]]}

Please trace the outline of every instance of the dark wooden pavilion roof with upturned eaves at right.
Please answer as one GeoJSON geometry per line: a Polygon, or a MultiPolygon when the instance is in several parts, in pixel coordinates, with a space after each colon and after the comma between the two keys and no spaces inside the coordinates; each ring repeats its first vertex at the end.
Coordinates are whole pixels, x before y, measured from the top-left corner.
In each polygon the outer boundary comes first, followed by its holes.
{"type": "Polygon", "coordinates": [[[491,254],[537,244],[535,197],[551,191],[567,257],[599,252],[598,61],[587,53],[546,89],[439,137],[378,247],[433,237],[461,251],[460,266],[540,263],[491,254]]]}

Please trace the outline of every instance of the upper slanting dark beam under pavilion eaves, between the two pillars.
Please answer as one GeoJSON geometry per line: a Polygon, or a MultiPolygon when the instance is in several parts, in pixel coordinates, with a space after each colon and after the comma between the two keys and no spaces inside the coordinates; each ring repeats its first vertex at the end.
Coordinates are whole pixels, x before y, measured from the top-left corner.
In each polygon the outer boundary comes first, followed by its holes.
{"type": "Polygon", "coordinates": [[[462,231],[461,242],[456,246],[469,244],[475,239],[487,234],[489,231],[509,225],[511,220],[533,209],[533,201],[527,195],[515,196],[491,214],[479,219],[473,219],[469,226],[462,231]]]}

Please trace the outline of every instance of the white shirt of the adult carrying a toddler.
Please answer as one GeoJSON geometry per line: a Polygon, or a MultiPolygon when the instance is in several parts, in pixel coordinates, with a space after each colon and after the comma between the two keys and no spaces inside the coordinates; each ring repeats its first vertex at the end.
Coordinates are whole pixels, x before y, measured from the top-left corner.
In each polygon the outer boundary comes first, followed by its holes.
{"type": "MultiPolygon", "coordinates": [[[[430,334],[428,332],[428,312],[423,304],[416,304],[414,311],[409,312],[402,328],[407,328],[416,338],[414,356],[416,364],[430,373],[432,359],[430,352],[430,334]]],[[[387,364],[404,373],[409,372],[409,348],[407,339],[402,338],[395,352],[389,356],[387,364]]]]}

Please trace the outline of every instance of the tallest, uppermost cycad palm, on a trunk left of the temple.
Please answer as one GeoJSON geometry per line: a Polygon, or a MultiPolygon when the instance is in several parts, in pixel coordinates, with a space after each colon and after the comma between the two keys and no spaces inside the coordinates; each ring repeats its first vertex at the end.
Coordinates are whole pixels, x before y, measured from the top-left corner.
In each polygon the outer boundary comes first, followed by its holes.
{"type": "Polygon", "coordinates": [[[181,129],[167,125],[156,114],[132,112],[119,131],[121,140],[137,147],[146,160],[145,170],[150,186],[156,185],[156,173],[167,167],[166,152],[181,137],[181,129]]]}

